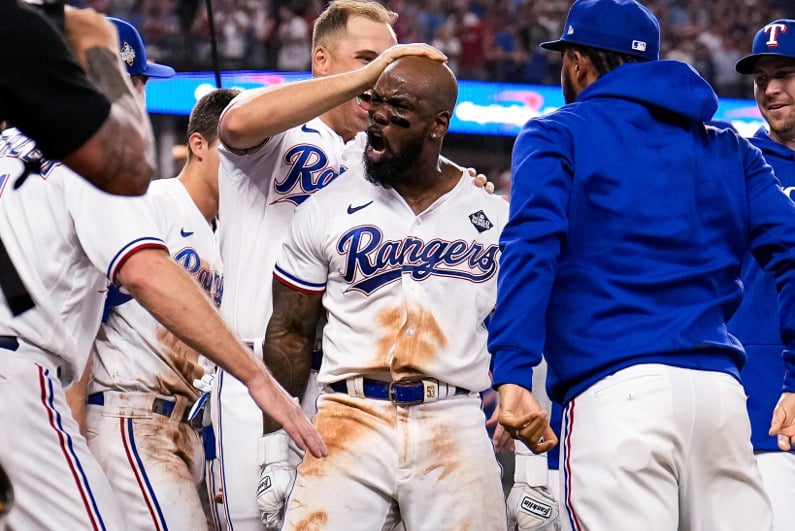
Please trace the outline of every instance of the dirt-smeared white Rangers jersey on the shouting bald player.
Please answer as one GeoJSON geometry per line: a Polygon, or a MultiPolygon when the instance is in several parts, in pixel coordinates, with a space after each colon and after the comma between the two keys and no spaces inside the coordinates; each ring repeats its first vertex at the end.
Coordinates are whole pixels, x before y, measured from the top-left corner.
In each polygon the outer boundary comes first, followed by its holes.
{"type": "Polygon", "coordinates": [[[320,383],[387,371],[489,387],[484,321],[507,217],[507,202],[466,178],[420,214],[358,171],[307,201],[274,275],[323,293],[320,383]]]}

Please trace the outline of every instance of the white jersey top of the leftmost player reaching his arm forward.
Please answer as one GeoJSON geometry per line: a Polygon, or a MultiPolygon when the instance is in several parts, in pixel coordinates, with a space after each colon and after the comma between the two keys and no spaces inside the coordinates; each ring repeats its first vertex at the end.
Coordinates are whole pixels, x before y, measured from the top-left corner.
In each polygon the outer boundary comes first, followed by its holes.
{"type": "Polygon", "coordinates": [[[0,305],[0,335],[60,366],[66,385],[85,366],[108,281],[136,251],[166,245],[145,197],[104,193],[60,163],[14,189],[35,145],[14,129],[1,138],[0,238],[36,307],[13,318],[0,305]]]}

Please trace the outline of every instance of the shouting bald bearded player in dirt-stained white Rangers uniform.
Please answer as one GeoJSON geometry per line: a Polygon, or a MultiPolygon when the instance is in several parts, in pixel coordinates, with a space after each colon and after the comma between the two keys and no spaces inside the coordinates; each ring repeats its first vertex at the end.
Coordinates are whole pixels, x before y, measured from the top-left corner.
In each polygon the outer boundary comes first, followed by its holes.
{"type": "Polygon", "coordinates": [[[490,384],[484,320],[507,205],[440,164],[457,95],[449,68],[390,63],[361,96],[365,168],[298,209],[274,269],[264,350],[287,388],[308,375],[315,323],[322,311],[328,320],[314,424],[329,455],[299,466],[284,529],[388,529],[400,518],[410,531],[502,531],[477,392],[490,384]]]}

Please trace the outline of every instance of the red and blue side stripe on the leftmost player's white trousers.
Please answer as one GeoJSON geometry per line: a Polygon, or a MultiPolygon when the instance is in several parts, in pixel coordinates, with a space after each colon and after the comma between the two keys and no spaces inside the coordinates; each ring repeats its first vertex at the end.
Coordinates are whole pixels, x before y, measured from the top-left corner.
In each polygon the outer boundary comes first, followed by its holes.
{"type": "Polygon", "coordinates": [[[50,421],[50,426],[58,436],[58,443],[63,452],[69,470],[72,472],[72,477],[75,480],[75,486],[80,493],[80,498],[83,501],[83,507],[88,515],[88,520],[91,522],[92,529],[106,529],[105,522],[102,520],[102,515],[97,507],[97,500],[94,498],[94,493],[91,492],[91,486],[88,483],[88,478],[83,470],[83,466],[77,457],[72,444],[72,436],[64,430],[61,421],[61,414],[55,409],[53,402],[53,388],[52,380],[50,380],[50,371],[37,365],[39,371],[39,389],[41,390],[41,403],[44,409],[47,410],[47,417],[50,421]]]}

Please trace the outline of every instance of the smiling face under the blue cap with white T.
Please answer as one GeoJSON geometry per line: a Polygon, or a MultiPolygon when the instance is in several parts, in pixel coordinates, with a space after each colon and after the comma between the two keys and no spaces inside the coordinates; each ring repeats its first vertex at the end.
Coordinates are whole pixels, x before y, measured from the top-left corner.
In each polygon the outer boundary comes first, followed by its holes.
{"type": "Polygon", "coordinates": [[[795,59],[762,57],[753,76],[754,96],[770,136],[795,149],[795,59]]]}

